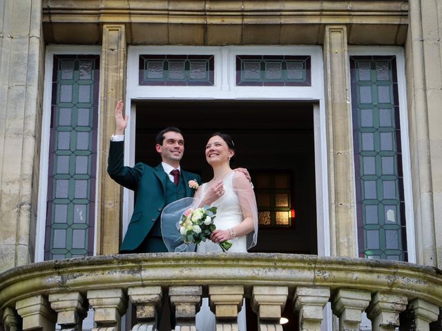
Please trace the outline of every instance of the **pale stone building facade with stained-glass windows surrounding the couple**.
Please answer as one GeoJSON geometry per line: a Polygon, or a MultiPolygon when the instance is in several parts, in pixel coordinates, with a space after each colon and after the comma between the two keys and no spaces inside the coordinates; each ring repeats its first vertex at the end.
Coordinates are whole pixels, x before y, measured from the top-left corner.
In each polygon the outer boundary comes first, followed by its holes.
{"type": "Polygon", "coordinates": [[[202,296],[231,326],[229,296],[251,300],[260,330],[283,330],[275,321],[287,306],[301,329],[336,320],[356,330],[365,311],[374,330],[441,330],[439,1],[0,6],[5,330],[50,330],[57,318],[81,329],[86,303],[97,328],[117,330],[128,300],[151,325],[167,295],[180,330],[202,296]],[[236,257],[240,267],[224,256],[117,254],[135,199],[106,173],[119,99],[128,165],[160,161],[155,133],[178,126],[183,166],[210,178],[205,139],[231,133],[260,212],[256,254],[236,257]]]}

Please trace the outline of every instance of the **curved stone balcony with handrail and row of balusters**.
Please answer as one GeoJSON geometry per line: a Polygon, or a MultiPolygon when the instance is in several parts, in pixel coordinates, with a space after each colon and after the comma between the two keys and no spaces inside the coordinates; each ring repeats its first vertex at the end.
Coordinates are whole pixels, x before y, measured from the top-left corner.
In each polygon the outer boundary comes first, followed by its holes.
{"type": "MultiPolygon", "coordinates": [[[[364,311],[372,330],[430,330],[442,307],[442,272],[315,255],[170,253],[46,261],[0,274],[6,331],[54,330],[56,323],[61,330],[81,330],[89,306],[93,330],[116,331],[130,303],[137,315],[132,330],[156,330],[156,309],[166,297],[180,331],[195,330],[202,297],[209,297],[217,330],[237,330],[244,297],[262,331],[283,330],[279,321],[288,302],[300,330],[320,330],[328,302],[340,330],[359,330],[364,311]]],[[[432,330],[440,330],[437,323],[432,330]]]]}

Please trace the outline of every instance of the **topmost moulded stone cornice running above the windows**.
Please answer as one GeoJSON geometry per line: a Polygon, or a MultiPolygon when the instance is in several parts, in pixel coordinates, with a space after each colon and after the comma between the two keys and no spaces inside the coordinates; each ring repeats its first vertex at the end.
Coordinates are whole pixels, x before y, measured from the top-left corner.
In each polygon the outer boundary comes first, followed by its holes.
{"type": "Polygon", "coordinates": [[[43,19],[60,23],[403,24],[408,20],[408,1],[46,0],[43,19]]]}

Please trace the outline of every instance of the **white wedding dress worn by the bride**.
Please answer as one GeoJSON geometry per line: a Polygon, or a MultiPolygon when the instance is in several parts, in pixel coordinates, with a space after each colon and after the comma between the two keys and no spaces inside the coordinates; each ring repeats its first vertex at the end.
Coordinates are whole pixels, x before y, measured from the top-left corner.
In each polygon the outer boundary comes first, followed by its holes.
{"type": "MultiPolygon", "coordinates": [[[[240,202],[238,200],[238,195],[233,188],[233,174],[230,172],[224,177],[224,194],[220,199],[215,201],[212,205],[215,205],[218,210],[216,212],[216,217],[214,223],[217,229],[227,230],[233,228],[242,222],[244,217],[242,216],[242,209],[240,202]]],[[[200,190],[202,190],[202,195],[204,196],[204,190],[207,189],[207,184],[202,184],[200,190]]],[[[232,247],[227,251],[227,253],[232,252],[247,252],[247,241],[246,236],[238,237],[230,241],[232,247]]],[[[197,248],[199,253],[213,253],[222,252],[222,248],[218,243],[213,243],[213,241],[205,241],[200,243],[197,248]]],[[[209,308],[209,299],[203,298],[200,312],[196,314],[196,329],[198,331],[215,331],[215,314],[211,312],[209,308]]],[[[246,325],[246,310],[244,301],[242,303],[242,309],[238,314],[238,330],[247,331],[246,325]]]]}

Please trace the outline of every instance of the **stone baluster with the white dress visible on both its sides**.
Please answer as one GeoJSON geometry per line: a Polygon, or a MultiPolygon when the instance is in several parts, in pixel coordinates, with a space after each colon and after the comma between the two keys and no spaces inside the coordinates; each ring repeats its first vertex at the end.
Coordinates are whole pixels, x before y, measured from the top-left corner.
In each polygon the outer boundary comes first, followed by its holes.
{"type": "Polygon", "coordinates": [[[244,287],[241,285],[209,286],[209,303],[215,312],[217,331],[238,331],[238,312],[243,296],[244,287]]]}

